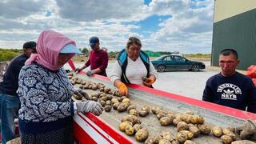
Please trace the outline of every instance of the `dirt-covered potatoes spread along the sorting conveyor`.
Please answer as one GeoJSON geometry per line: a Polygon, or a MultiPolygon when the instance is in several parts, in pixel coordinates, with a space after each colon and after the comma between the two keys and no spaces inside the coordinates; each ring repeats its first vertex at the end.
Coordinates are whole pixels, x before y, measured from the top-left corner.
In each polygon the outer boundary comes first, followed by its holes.
{"type": "Polygon", "coordinates": [[[192,138],[197,138],[198,136],[213,134],[217,138],[221,138],[222,142],[225,144],[231,143],[236,140],[236,135],[234,134],[234,127],[222,128],[220,126],[214,126],[211,128],[210,125],[205,123],[204,118],[201,115],[194,114],[192,111],[187,111],[184,114],[174,113],[170,111],[163,110],[158,106],[142,106],[140,110],[132,105],[130,98],[125,96],[120,96],[118,90],[111,90],[109,87],[104,86],[102,83],[87,82],[81,78],[74,77],[72,73],[68,74],[71,83],[80,84],[79,88],[82,89],[81,96],[74,94],[74,98],[86,101],[93,100],[100,102],[104,107],[106,112],[112,110],[118,110],[119,112],[126,111],[129,115],[124,116],[121,119],[121,124],[119,129],[125,132],[127,135],[134,135],[138,142],[145,143],[186,143],[193,144],[192,138]],[[86,94],[86,89],[99,90],[100,92],[94,94],[86,94]],[[149,137],[149,131],[141,126],[141,118],[150,114],[151,112],[158,118],[158,121],[162,126],[176,126],[177,134],[171,134],[170,131],[163,131],[154,137],[149,137]]]}

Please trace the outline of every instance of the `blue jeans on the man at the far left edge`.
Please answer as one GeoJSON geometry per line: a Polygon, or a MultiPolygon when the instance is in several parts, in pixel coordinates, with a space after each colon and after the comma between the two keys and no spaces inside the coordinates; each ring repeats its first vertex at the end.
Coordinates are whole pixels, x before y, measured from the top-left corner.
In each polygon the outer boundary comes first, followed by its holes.
{"type": "Polygon", "coordinates": [[[1,132],[2,132],[2,144],[6,144],[9,140],[18,137],[15,134],[14,118],[18,117],[19,98],[17,95],[0,94],[2,97],[1,103],[1,132]]]}

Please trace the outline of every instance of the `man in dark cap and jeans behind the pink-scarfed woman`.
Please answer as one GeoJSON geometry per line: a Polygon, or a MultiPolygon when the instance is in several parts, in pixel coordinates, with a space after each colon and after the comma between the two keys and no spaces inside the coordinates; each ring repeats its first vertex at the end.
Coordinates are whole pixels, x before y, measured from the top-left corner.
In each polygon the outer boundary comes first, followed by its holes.
{"type": "Polygon", "coordinates": [[[32,53],[36,53],[36,42],[30,41],[23,44],[23,54],[14,58],[3,75],[3,81],[0,83],[0,102],[1,106],[1,132],[2,143],[17,137],[14,133],[14,118],[18,116],[19,98],[16,91],[18,90],[18,74],[24,66],[26,60],[32,53]]]}

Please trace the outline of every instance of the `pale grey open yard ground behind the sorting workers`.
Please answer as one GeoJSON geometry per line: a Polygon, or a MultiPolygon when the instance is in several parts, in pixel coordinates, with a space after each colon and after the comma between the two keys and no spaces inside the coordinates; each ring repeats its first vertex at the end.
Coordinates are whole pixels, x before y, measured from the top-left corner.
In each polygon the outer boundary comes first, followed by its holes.
{"type": "MultiPolygon", "coordinates": [[[[210,66],[210,62],[205,62],[206,67],[210,66]]],[[[75,63],[75,66],[82,66],[83,62],[75,63]]],[[[106,69],[106,73],[110,74],[113,63],[110,63],[106,69]]],[[[65,66],[68,68],[69,66],[65,66]]],[[[89,68],[86,68],[89,70],[89,68]]],[[[206,85],[206,80],[214,74],[218,74],[219,70],[201,70],[192,72],[188,70],[169,70],[158,73],[158,79],[154,83],[154,89],[167,91],[190,98],[201,99],[202,92],[206,85]]]]}

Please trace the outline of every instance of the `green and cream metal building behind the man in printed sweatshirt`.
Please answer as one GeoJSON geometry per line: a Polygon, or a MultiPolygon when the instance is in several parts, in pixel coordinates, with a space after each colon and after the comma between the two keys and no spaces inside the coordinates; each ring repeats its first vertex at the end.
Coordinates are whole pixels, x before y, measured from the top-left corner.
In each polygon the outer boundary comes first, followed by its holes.
{"type": "Polygon", "coordinates": [[[238,51],[239,70],[256,65],[256,0],[214,1],[212,66],[226,48],[238,51]]]}

